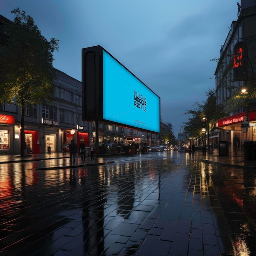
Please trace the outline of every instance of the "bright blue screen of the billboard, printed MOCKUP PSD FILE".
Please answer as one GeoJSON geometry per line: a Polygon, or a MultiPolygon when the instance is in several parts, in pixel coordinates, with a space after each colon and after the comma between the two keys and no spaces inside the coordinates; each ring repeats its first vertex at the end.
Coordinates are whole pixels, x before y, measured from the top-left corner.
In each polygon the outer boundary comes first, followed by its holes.
{"type": "Polygon", "coordinates": [[[103,120],[160,132],[160,98],[104,50],[103,120]]]}

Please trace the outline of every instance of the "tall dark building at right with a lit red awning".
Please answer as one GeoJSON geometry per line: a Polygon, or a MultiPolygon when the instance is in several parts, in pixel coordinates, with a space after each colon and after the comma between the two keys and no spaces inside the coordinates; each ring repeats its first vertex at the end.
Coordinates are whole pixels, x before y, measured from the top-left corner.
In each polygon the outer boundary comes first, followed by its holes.
{"type": "MultiPolygon", "coordinates": [[[[240,52],[241,54],[241,52],[240,52]]],[[[229,34],[220,49],[220,59],[216,68],[216,96],[217,104],[224,103],[233,93],[240,93],[249,83],[254,83],[256,70],[256,1],[241,0],[238,3],[238,19],[231,23],[229,34]],[[243,42],[247,46],[247,78],[236,79],[234,76],[234,46],[243,42]]],[[[254,85],[255,86],[255,85],[254,85]]],[[[241,97],[243,94],[241,92],[241,97]]],[[[230,108],[229,104],[229,108],[230,108]]],[[[256,101],[252,99],[247,106],[231,106],[231,116],[216,120],[219,140],[229,142],[229,150],[233,151],[233,138],[240,141],[256,140],[256,101]],[[247,116],[249,120],[247,119],[247,116]],[[249,124],[244,124],[249,121],[249,124]],[[248,126],[248,127],[246,127],[248,126]]]]}

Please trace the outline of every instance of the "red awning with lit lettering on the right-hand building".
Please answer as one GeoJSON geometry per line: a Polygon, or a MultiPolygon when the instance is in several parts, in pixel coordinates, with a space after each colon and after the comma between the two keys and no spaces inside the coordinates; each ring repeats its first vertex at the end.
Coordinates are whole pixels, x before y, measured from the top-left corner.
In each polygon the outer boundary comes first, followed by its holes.
{"type": "MultiPolygon", "coordinates": [[[[217,129],[223,129],[225,126],[237,126],[238,124],[245,121],[245,117],[246,112],[232,115],[230,117],[221,118],[214,123],[214,127],[217,129]]],[[[256,121],[256,111],[249,111],[249,121],[256,121]]]]}

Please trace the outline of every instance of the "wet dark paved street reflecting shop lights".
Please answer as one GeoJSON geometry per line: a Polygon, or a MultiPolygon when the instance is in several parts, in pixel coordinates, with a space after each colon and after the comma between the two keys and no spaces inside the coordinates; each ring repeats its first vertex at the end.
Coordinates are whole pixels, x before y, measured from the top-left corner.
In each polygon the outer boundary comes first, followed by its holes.
{"type": "Polygon", "coordinates": [[[256,161],[0,155],[1,255],[256,255],[256,161]]]}

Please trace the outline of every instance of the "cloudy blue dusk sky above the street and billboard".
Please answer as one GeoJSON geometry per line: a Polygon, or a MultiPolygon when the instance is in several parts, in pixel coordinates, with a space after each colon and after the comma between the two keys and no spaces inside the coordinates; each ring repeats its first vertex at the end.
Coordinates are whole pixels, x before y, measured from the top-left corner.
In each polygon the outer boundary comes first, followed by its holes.
{"type": "MultiPolygon", "coordinates": [[[[238,0],[0,0],[9,20],[19,7],[41,34],[59,39],[54,67],[81,81],[81,49],[101,45],[161,98],[177,138],[195,102],[215,89],[214,72],[238,0]]],[[[240,3],[240,0],[239,0],[240,3]]],[[[125,88],[113,92],[122,103],[125,88]]]]}

